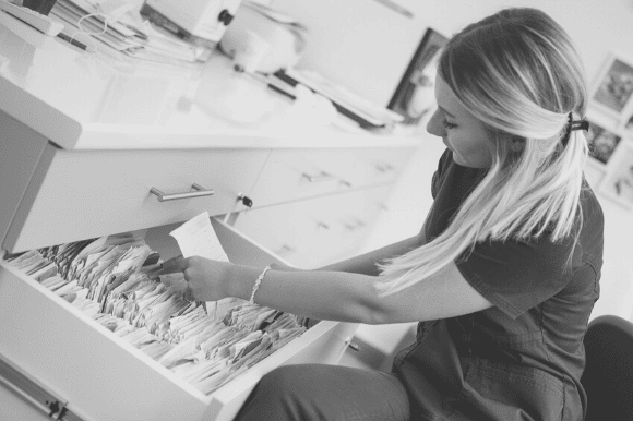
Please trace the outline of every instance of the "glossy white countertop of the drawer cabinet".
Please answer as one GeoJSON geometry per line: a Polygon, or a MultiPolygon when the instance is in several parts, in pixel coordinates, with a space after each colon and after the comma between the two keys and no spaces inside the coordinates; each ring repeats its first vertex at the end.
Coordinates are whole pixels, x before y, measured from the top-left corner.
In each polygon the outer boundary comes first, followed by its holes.
{"type": "Polygon", "coordinates": [[[319,124],[214,53],[174,67],[92,53],[0,12],[0,111],[67,149],[406,146],[341,117],[319,124]]]}

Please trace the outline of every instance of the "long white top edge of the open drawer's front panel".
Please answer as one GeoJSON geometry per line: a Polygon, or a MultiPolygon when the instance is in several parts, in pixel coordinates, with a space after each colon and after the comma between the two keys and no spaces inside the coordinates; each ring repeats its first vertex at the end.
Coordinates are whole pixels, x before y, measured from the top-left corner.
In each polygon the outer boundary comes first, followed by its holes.
{"type": "Polygon", "coordinates": [[[207,404],[211,401],[211,397],[203,394],[191,384],[186,382],[184,380],[178,377],[171,371],[159,364],[157,361],[152,359],[150,356],[145,354],[143,351],[135,348],[133,345],[128,344],[123,339],[119,338],[118,336],[114,335],[110,330],[108,330],[105,326],[101,326],[99,323],[95,322],[87,315],[85,315],[80,309],[74,308],[72,304],[68,303],[61,297],[58,297],[53,292],[49,291],[47,288],[39,285],[36,280],[32,279],[29,276],[24,275],[19,269],[11,267],[7,262],[3,260],[0,261],[0,268],[10,272],[12,275],[19,277],[23,280],[27,286],[29,286],[36,293],[39,293],[46,297],[48,300],[53,302],[56,305],[61,306],[69,313],[73,314],[77,321],[81,323],[91,326],[94,328],[95,332],[98,332],[98,335],[106,337],[110,341],[115,342],[120,348],[123,348],[127,352],[134,356],[138,360],[142,363],[148,365],[154,371],[163,375],[167,381],[176,384],[178,387],[184,389],[189,395],[193,396],[194,398],[207,404]]]}

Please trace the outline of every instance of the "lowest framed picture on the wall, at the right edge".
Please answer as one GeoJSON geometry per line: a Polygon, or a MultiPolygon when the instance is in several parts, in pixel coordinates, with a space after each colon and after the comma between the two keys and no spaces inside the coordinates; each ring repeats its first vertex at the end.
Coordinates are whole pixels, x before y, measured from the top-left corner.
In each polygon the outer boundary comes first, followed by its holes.
{"type": "Polygon", "coordinates": [[[633,209],[633,142],[622,142],[612,159],[600,183],[599,192],[633,209]]]}

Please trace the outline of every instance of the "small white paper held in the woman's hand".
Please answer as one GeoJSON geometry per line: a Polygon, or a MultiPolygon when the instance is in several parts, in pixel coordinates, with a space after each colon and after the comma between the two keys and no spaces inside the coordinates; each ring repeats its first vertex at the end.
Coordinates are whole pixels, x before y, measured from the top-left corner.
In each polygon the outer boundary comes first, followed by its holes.
{"type": "Polygon", "coordinates": [[[169,236],[178,242],[183,257],[200,256],[228,262],[206,211],[169,232],[169,236]]]}

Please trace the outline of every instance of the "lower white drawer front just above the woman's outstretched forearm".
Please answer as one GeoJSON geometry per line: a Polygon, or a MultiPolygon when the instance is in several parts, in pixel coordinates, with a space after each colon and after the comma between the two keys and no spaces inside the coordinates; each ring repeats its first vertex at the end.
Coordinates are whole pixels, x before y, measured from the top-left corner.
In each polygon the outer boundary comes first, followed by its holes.
{"type": "Polygon", "coordinates": [[[235,228],[295,266],[320,267],[362,245],[391,188],[387,184],[242,212],[235,228]]]}

